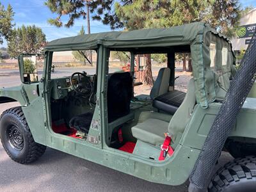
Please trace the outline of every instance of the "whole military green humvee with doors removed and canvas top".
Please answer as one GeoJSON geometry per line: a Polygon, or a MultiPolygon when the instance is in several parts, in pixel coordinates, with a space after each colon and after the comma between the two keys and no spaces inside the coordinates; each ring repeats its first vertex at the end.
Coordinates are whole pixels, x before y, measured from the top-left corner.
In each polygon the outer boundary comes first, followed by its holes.
{"type": "MultiPolygon", "coordinates": [[[[35,161],[47,146],[150,182],[183,184],[236,74],[235,61],[228,39],[204,22],[54,40],[45,47],[41,79],[35,56],[20,54],[22,84],[0,88],[0,103],[21,106],[1,115],[3,147],[18,163],[35,161]],[[97,52],[96,73],[52,78],[53,52],[74,50],[97,52]],[[131,53],[131,72],[109,73],[111,51],[131,53]],[[191,52],[187,93],[174,90],[175,52],[191,52]],[[134,58],[152,53],[167,54],[167,66],[150,95],[134,97],[134,58]]],[[[247,98],[223,148],[243,158],[213,175],[209,191],[256,187],[255,113],[256,99],[247,98]]]]}

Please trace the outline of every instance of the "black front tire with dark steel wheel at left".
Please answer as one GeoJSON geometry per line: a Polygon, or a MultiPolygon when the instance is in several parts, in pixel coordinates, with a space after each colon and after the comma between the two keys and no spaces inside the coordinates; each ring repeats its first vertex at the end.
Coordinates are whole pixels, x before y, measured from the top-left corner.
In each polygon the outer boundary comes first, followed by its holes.
{"type": "Polygon", "coordinates": [[[0,138],[8,156],[21,164],[36,161],[46,149],[34,141],[20,107],[8,109],[1,115],[0,138]]]}

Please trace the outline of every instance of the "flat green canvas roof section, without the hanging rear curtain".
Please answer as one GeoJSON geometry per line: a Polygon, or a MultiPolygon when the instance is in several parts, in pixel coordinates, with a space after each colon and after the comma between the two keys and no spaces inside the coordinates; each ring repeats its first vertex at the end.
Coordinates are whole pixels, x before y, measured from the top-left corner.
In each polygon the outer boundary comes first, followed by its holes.
{"type": "Polygon", "coordinates": [[[47,44],[45,51],[72,50],[80,47],[96,49],[100,44],[119,48],[189,45],[197,35],[203,34],[205,30],[216,33],[204,22],[194,22],[173,28],[93,33],[53,40],[47,44]]]}

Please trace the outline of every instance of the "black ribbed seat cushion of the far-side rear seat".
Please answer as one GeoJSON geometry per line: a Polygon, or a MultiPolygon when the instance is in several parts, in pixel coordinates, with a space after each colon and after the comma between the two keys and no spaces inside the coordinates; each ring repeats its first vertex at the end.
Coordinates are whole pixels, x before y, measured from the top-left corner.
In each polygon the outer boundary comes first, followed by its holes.
{"type": "Polygon", "coordinates": [[[153,107],[170,114],[174,114],[182,104],[186,93],[174,90],[159,95],[153,100],[153,107]]]}

